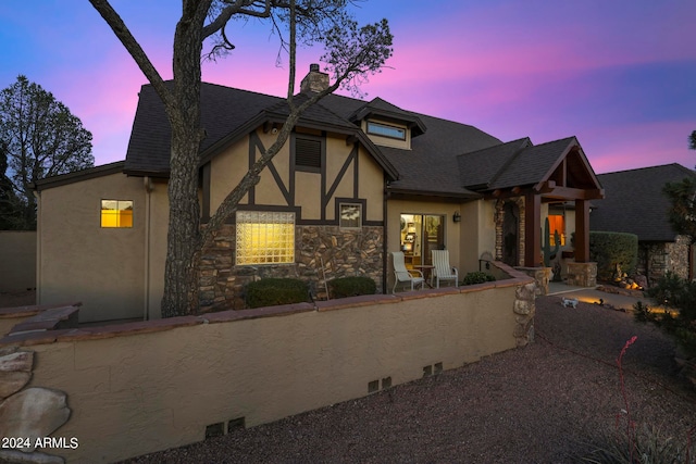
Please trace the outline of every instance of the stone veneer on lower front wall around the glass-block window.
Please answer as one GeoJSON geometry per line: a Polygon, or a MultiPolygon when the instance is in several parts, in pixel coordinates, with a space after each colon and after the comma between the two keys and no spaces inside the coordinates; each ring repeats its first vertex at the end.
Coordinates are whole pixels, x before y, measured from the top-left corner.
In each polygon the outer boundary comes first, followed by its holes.
{"type": "Polygon", "coordinates": [[[225,225],[214,246],[204,250],[200,266],[201,312],[244,310],[244,287],[263,277],[293,277],[308,280],[320,299],[325,298],[326,280],[365,276],[382,292],[384,228],[365,226],[360,230],[338,226],[295,226],[295,263],[235,265],[235,226],[225,225]]]}

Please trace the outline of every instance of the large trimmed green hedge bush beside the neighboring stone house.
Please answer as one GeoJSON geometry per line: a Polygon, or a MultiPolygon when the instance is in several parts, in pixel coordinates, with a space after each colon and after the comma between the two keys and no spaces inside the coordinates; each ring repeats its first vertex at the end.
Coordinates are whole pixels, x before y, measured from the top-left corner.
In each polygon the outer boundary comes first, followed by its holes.
{"type": "MultiPolygon", "coordinates": [[[[597,263],[597,278],[611,280],[617,265],[622,273],[633,274],[638,260],[638,236],[624,233],[589,233],[589,260],[597,263]]],[[[619,276],[621,277],[621,276],[619,276]]]]}

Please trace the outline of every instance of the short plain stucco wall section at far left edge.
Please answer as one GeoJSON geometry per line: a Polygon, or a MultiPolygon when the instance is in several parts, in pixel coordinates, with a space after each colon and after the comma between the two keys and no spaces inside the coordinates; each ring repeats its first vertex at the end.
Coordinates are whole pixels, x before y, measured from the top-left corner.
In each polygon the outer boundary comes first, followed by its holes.
{"type": "Polygon", "coordinates": [[[36,287],[36,231],[0,230],[0,291],[36,287]]]}

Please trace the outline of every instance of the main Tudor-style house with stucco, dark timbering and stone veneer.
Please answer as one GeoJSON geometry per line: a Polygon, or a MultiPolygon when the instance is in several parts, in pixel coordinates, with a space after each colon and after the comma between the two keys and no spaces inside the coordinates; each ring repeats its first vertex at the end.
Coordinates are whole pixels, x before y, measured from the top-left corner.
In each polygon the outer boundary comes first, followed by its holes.
{"type": "MultiPolygon", "coordinates": [[[[311,68],[297,99],[328,76],[311,68]]],[[[159,317],[169,203],[170,129],[141,88],[124,162],[40,180],[38,300],[84,302],[83,321],[159,317]]],[[[287,105],[277,97],[201,86],[203,222],[275,139],[287,105]]],[[[573,276],[592,285],[589,200],[601,187],[574,137],[502,143],[482,130],[402,110],[380,98],[328,96],[310,108],[238,212],[204,250],[203,311],[244,305],[244,285],[293,276],[366,275],[391,288],[388,252],[410,266],[447,249],[459,275],[482,256],[542,263],[544,218],[572,204],[573,276]]],[[[566,228],[563,216],[555,227],[566,228]]],[[[569,231],[568,231],[569,234],[569,231]]]]}

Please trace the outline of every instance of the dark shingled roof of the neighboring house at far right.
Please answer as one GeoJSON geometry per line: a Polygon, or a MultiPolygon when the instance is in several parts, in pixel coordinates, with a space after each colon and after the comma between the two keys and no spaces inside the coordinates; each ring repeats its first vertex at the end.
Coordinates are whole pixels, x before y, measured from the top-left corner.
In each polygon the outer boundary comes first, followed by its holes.
{"type": "Polygon", "coordinates": [[[662,187],[694,175],[678,163],[599,174],[606,198],[593,201],[589,229],[635,234],[641,241],[674,241],[662,187]]]}

